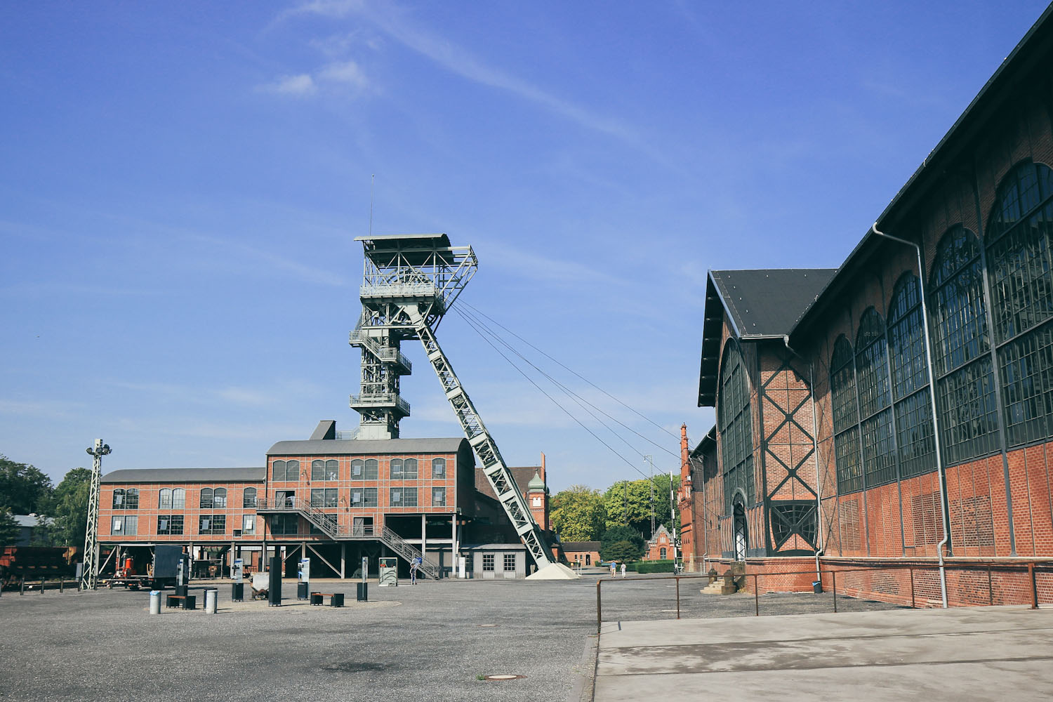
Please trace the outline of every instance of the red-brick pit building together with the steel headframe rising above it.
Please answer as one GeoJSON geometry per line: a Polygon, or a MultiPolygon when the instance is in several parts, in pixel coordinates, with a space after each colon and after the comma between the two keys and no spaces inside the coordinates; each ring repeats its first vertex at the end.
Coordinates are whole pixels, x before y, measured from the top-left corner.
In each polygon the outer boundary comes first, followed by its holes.
{"type": "Polygon", "coordinates": [[[361,350],[361,392],[351,396],[359,427],[343,436],[322,421],[310,439],[274,444],[261,467],[107,474],[94,492],[92,574],[130,558],[141,571],[148,546],[168,543],[186,547],[199,577],[226,574],[238,557],[258,569],[272,556],[286,575],[310,558],[316,577],[360,575],[363,557],[374,573],[389,556],[403,571],[422,559],[432,578],[520,578],[545,566],[540,577],[573,577],[554,563],[543,454],[537,466],[505,465],[435,338],[474,275],[472,247],[453,246],[444,234],[357,241],[362,312],[350,343],[361,350]],[[422,343],[464,438],[400,437],[411,412],[399,394],[413,370],[400,348],[406,340],[422,343]]]}

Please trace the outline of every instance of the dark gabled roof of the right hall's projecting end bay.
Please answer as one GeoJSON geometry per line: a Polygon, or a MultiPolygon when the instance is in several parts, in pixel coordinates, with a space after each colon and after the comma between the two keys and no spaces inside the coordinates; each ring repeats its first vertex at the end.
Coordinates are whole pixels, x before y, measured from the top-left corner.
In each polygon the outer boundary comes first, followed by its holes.
{"type": "Polygon", "coordinates": [[[698,406],[712,407],[716,402],[726,315],[735,336],[742,341],[781,338],[790,334],[835,273],[835,268],[710,270],[706,282],[698,406]]]}

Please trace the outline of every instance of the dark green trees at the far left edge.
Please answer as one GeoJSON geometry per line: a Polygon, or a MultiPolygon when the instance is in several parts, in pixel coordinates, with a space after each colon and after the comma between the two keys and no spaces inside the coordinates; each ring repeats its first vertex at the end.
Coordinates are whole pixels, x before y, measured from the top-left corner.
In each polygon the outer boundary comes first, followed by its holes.
{"type": "Polygon", "coordinates": [[[37,515],[34,546],[83,546],[92,470],[73,468],[58,485],[39,468],[0,454],[0,546],[15,543],[15,515],[37,515]]]}

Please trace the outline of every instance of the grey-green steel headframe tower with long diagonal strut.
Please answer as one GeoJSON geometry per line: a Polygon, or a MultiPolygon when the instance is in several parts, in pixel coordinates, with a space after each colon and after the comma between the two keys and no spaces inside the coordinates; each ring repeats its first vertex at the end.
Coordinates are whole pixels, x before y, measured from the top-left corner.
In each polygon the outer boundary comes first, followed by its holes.
{"type": "Polygon", "coordinates": [[[361,394],[351,396],[352,408],[361,415],[358,438],[398,438],[399,421],[410,416],[410,403],[399,396],[399,378],[413,372],[400,346],[402,341],[419,339],[504,513],[538,569],[549,565],[540,527],[435,339],[442,316],[475,275],[475,253],[471,246],[452,246],[444,234],[369,236],[355,241],[361,241],[365,250],[359,292],[362,315],[351,333],[351,345],[362,350],[361,394]]]}

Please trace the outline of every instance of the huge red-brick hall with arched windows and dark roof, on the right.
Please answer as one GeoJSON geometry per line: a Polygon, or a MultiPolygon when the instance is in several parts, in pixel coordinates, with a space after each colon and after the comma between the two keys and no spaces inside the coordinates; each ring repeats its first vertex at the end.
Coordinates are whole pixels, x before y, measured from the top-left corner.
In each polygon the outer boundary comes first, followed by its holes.
{"type": "Polygon", "coordinates": [[[689,568],[1053,600],[1051,15],[840,267],[709,272],[698,404],[716,426],[681,446],[689,568]]]}

